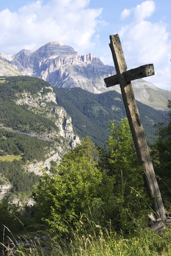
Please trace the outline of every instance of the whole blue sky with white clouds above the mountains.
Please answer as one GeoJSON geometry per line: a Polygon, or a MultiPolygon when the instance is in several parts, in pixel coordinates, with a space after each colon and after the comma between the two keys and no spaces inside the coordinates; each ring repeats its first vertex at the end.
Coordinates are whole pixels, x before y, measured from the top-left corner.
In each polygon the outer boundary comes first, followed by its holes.
{"type": "Polygon", "coordinates": [[[0,52],[50,41],[113,65],[109,35],[119,34],[128,69],[153,63],[146,80],[171,89],[171,0],[0,0],[0,52]]]}

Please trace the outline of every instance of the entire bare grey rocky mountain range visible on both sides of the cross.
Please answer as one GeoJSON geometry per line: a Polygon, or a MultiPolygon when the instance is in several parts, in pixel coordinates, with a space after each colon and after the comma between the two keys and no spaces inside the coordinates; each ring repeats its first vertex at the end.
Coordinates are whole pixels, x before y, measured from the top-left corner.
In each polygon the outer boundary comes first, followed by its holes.
{"type": "MultiPolygon", "coordinates": [[[[0,68],[5,63],[13,65],[15,72],[18,69],[22,74],[44,79],[53,87],[80,87],[96,94],[111,90],[120,92],[118,85],[107,89],[103,80],[116,74],[114,67],[104,65],[91,53],[79,55],[71,46],[58,41],[45,44],[35,51],[23,49],[13,55],[0,53],[0,60],[3,61],[0,68]]],[[[14,72],[11,70],[9,75],[14,75],[14,72]]],[[[166,96],[171,97],[171,92],[159,89],[143,79],[133,81],[132,85],[135,98],[156,109],[163,110],[166,96]]]]}

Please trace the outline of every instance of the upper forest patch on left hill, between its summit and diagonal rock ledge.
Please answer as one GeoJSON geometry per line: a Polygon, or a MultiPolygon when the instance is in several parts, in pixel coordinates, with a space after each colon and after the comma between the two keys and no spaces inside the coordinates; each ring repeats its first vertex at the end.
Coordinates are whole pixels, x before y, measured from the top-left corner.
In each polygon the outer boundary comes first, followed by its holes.
{"type": "Polygon", "coordinates": [[[0,122],[15,130],[34,131],[37,133],[58,131],[55,123],[41,115],[31,112],[27,105],[15,103],[16,94],[24,90],[29,94],[41,91],[41,94],[51,91],[44,80],[29,76],[8,77],[4,84],[0,84],[0,122]]]}

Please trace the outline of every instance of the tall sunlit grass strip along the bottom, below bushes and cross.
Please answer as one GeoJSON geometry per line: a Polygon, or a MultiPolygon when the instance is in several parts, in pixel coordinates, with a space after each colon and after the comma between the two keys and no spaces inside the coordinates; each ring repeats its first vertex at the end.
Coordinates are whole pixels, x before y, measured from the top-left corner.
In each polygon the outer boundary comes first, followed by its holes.
{"type": "MultiPolygon", "coordinates": [[[[167,209],[171,209],[171,202],[167,198],[165,198],[165,205],[167,209]]],[[[79,229],[68,228],[70,231],[64,238],[59,238],[58,234],[45,232],[42,226],[34,225],[26,229],[20,222],[26,234],[22,234],[25,243],[19,246],[15,245],[15,241],[21,239],[21,236],[19,234],[14,236],[8,227],[5,227],[1,243],[2,255],[10,256],[15,253],[16,256],[171,256],[171,222],[167,223],[165,230],[157,233],[151,231],[148,226],[145,211],[143,216],[137,219],[128,209],[121,206],[119,210],[125,214],[122,217],[129,215],[128,222],[125,219],[122,220],[120,230],[118,226],[112,226],[110,221],[106,228],[98,225],[93,219],[90,220],[81,215],[79,229]],[[27,230],[33,231],[39,228],[42,231],[34,232],[37,238],[30,243],[33,233],[27,230]],[[10,232],[10,236],[5,237],[5,229],[10,232]],[[42,239],[44,235],[48,239],[42,239]],[[7,238],[11,247],[5,244],[7,238]],[[28,245],[27,248],[24,247],[25,244],[28,245]]]]}

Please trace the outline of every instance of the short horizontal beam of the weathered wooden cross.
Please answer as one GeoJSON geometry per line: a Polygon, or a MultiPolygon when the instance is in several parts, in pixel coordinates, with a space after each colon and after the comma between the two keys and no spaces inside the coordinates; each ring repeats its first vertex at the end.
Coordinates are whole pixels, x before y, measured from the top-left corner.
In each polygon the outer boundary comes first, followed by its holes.
{"type": "MultiPolygon", "coordinates": [[[[127,70],[127,71],[123,72],[122,74],[124,76],[125,81],[130,82],[132,80],[136,80],[136,79],[140,79],[143,77],[154,75],[155,74],[154,65],[153,64],[143,65],[143,66],[140,66],[135,69],[127,70]]],[[[104,82],[107,87],[119,84],[117,74],[105,78],[104,82]]]]}

